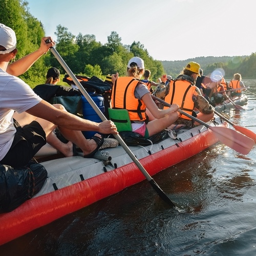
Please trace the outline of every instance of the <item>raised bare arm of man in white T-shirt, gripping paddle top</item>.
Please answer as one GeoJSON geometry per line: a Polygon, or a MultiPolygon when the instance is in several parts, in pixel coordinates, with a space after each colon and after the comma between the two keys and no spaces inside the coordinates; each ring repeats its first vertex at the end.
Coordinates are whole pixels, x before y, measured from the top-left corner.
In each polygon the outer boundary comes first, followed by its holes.
{"type": "Polygon", "coordinates": [[[44,53],[47,53],[50,47],[54,45],[55,42],[51,37],[42,37],[39,49],[8,65],[6,72],[14,76],[22,75],[35,63],[37,59],[39,59],[44,53]],[[51,40],[49,44],[46,44],[45,42],[47,39],[51,40]]]}

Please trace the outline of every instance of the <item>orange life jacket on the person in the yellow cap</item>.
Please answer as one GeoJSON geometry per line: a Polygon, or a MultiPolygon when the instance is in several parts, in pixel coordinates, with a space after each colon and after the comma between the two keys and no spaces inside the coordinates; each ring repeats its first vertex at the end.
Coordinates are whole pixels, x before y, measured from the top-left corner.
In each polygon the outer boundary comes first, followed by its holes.
{"type": "MultiPolygon", "coordinates": [[[[192,115],[195,106],[192,96],[196,88],[196,86],[193,86],[190,82],[185,80],[171,80],[169,83],[169,93],[164,100],[171,105],[174,103],[178,104],[182,111],[192,115]]],[[[167,108],[168,107],[164,106],[164,109],[167,108]]],[[[184,115],[181,115],[180,117],[191,120],[191,118],[184,115]]]]}

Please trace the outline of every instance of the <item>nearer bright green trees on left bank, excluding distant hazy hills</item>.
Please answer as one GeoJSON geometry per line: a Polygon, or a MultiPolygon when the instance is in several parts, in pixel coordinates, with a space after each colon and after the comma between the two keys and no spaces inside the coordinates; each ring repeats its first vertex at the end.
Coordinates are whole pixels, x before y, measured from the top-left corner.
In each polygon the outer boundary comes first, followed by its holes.
{"type": "MultiPolygon", "coordinates": [[[[28,2],[0,0],[0,13],[0,23],[11,27],[16,33],[16,59],[38,49],[41,37],[45,36],[44,26],[30,14],[28,2]]],[[[127,62],[133,56],[139,56],[144,60],[145,67],[151,70],[153,79],[164,74],[161,61],[153,59],[139,41],[123,45],[121,37],[115,31],[111,32],[104,45],[96,40],[95,35],[79,33],[75,36],[61,25],[56,27],[55,35],[56,50],[76,75],[95,75],[104,79],[108,74],[119,72],[119,75],[123,76],[126,73],[127,62]]],[[[20,78],[31,87],[44,83],[49,67],[56,67],[65,74],[56,58],[48,53],[37,60],[20,78]]]]}

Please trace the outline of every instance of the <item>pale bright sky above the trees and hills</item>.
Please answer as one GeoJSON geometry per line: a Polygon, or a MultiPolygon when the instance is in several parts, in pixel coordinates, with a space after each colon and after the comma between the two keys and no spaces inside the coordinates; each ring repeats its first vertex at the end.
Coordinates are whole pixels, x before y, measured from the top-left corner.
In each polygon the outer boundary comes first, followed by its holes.
{"type": "Polygon", "coordinates": [[[61,25],[105,44],[140,42],[156,60],[243,56],[256,52],[251,0],[26,0],[29,12],[56,39],[61,25]]]}

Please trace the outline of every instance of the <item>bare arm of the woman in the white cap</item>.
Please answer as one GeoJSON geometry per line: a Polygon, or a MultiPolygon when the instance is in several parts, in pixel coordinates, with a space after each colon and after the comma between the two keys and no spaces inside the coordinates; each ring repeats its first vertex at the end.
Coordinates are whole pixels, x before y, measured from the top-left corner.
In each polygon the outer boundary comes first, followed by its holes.
{"type": "Polygon", "coordinates": [[[155,101],[152,99],[150,93],[146,93],[141,99],[146,104],[146,108],[157,119],[163,118],[164,116],[169,115],[170,113],[173,113],[179,109],[177,104],[173,104],[169,109],[160,110],[155,101]]]}

